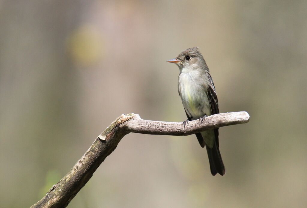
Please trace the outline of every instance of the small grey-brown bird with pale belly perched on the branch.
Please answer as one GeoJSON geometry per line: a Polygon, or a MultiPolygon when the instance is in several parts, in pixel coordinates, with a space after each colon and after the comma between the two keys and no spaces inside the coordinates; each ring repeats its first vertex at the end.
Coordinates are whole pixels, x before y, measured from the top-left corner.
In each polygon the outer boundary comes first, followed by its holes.
{"type": "MultiPolygon", "coordinates": [[[[205,117],[219,113],[214,83],[198,47],[188,48],[166,62],[175,63],[179,67],[178,93],[188,117],[183,122],[184,127],[188,121],[199,119],[202,122],[205,117]]],[[[219,149],[219,129],[196,133],[196,137],[200,146],[207,149],[211,174],[225,175],[219,149]]]]}

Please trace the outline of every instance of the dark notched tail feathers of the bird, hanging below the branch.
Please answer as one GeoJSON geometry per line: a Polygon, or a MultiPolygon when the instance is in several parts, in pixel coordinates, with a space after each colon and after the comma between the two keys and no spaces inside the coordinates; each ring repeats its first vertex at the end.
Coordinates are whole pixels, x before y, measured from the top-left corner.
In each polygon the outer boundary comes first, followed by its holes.
{"type": "Polygon", "coordinates": [[[206,149],[208,153],[211,174],[216,175],[216,173],[219,173],[220,175],[225,175],[225,166],[223,164],[220,149],[216,145],[216,141],[214,140],[212,149],[207,145],[206,149]]]}

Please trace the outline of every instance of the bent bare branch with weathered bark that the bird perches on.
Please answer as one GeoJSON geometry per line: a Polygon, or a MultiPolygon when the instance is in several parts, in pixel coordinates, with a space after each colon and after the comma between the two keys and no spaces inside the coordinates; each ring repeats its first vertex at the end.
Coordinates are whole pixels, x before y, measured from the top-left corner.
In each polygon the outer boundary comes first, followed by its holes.
{"type": "Polygon", "coordinates": [[[138,114],[122,114],[97,137],[64,178],[53,185],[47,194],[31,208],[66,207],[92,177],[103,160],[115,150],[122,137],[130,132],[186,136],[207,129],[243,124],[248,121],[247,112],[222,113],[208,116],[203,122],[189,121],[184,128],[182,122],[149,121],[143,120],[138,114]]]}

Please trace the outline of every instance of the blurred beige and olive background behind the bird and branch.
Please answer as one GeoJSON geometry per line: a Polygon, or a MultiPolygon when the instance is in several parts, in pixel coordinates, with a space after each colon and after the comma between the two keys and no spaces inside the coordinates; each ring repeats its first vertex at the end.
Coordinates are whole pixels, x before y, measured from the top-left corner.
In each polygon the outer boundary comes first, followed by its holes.
{"type": "Polygon", "coordinates": [[[195,135],[129,134],[68,207],[305,207],[307,1],[0,1],[0,207],[40,200],[123,113],[184,121],[199,46],[224,177],[195,135]]]}

